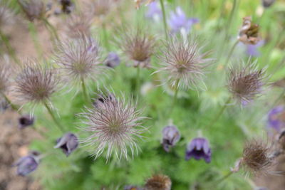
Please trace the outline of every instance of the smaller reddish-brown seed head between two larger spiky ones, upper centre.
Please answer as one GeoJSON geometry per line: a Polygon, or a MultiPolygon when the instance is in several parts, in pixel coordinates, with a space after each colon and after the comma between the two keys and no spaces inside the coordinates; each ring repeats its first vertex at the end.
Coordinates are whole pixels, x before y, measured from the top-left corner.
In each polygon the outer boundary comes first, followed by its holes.
{"type": "Polygon", "coordinates": [[[155,51],[155,38],[142,29],[125,31],[120,45],[135,67],[150,68],[150,57],[155,51]]]}

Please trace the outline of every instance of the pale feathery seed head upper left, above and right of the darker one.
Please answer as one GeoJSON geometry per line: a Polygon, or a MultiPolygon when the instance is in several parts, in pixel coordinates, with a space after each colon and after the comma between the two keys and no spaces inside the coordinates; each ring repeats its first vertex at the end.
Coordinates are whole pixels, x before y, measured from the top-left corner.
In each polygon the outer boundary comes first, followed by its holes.
{"type": "Polygon", "coordinates": [[[63,78],[68,82],[100,80],[108,68],[100,65],[100,48],[97,41],[81,34],[80,38],[58,42],[56,63],[61,68],[63,78]]]}

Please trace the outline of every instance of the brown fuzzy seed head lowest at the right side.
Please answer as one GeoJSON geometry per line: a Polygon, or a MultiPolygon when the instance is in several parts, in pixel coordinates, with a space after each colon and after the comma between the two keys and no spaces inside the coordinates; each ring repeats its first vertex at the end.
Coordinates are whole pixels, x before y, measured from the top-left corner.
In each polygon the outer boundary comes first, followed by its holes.
{"type": "Polygon", "coordinates": [[[244,146],[241,164],[254,174],[266,174],[273,164],[269,154],[270,146],[267,143],[252,139],[244,146]]]}

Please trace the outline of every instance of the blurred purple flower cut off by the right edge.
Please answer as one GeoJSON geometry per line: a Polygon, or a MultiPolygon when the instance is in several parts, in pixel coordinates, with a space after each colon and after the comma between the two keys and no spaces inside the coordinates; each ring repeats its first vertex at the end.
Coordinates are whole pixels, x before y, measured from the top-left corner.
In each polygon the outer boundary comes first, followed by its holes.
{"type": "Polygon", "coordinates": [[[285,127],[284,106],[277,106],[269,111],[267,124],[277,131],[281,130],[282,127],[285,127]]]}

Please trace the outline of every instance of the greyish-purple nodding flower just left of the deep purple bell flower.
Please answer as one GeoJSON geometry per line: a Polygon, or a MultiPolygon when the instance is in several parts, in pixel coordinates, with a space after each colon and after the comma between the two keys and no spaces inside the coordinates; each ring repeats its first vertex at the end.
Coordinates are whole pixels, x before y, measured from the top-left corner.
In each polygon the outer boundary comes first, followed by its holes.
{"type": "Polygon", "coordinates": [[[175,146],[175,144],[180,139],[180,132],[177,130],[177,127],[174,125],[166,126],[162,130],[162,146],[166,152],[170,151],[170,147],[175,146]]]}

